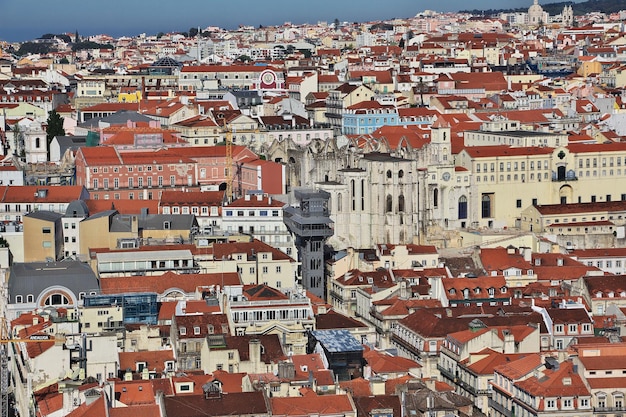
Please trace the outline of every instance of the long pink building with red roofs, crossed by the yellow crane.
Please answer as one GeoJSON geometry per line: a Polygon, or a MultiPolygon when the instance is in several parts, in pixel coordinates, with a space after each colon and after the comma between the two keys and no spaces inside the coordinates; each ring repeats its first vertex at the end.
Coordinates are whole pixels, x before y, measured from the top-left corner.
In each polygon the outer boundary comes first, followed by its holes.
{"type": "Polygon", "coordinates": [[[232,169],[235,195],[285,192],[284,165],[265,161],[244,146],[233,146],[228,167],[225,146],[143,151],[85,147],[76,155],[76,184],[93,199],[158,199],[164,189],[225,190],[232,169]]]}

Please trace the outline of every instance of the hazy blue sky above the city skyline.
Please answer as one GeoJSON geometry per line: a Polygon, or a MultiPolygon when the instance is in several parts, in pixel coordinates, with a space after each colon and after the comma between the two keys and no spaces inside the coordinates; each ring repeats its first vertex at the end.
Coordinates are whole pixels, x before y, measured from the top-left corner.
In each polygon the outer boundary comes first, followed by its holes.
{"type": "MultiPolygon", "coordinates": [[[[539,2],[544,3],[544,1],[539,2]]],[[[190,27],[382,20],[423,10],[528,7],[532,0],[0,0],[0,39],[11,42],[78,30],[114,37],[190,27]]]]}

